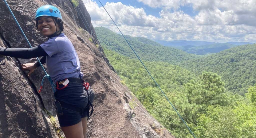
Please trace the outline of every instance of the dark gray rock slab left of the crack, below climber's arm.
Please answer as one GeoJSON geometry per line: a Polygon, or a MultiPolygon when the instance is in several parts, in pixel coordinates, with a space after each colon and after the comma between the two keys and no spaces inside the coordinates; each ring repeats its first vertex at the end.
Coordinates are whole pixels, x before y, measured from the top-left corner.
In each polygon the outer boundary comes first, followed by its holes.
{"type": "MultiPolygon", "coordinates": [[[[2,40],[0,45],[4,47],[2,40]]],[[[23,76],[12,58],[0,56],[0,137],[56,138],[23,76]]]]}

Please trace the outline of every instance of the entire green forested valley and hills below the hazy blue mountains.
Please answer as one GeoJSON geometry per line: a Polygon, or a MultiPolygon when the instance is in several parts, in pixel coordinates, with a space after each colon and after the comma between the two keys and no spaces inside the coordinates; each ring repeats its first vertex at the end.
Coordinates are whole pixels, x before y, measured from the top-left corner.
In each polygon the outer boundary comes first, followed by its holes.
{"type": "MultiPolygon", "coordinates": [[[[122,83],[148,112],[176,138],[192,138],[124,38],[95,30],[122,83]]],[[[256,137],[256,45],[198,56],[126,37],[197,138],[256,137]]]]}

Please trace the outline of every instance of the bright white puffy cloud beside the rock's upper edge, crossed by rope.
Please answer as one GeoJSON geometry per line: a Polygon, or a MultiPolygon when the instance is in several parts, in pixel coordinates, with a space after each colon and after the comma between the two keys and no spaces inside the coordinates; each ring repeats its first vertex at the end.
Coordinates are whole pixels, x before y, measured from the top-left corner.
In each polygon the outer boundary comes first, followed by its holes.
{"type": "MultiPolygon", "coordinates": [[[[97,26],[106,25],[106,23],[109,25],[112,22],[104,8],[99,7],[96,2],[91,0],[83,0],[83,2],[85,3],[85,6],[88,5],[86,6],[86,9],[97,26]]],[[[118,25],[153,27],[158,20],[158,18],[152,15],[147,15],[143,8],[126,6],[121,2],[107,2],[104,7],[108,10],[109,14],[118,25]]]]}

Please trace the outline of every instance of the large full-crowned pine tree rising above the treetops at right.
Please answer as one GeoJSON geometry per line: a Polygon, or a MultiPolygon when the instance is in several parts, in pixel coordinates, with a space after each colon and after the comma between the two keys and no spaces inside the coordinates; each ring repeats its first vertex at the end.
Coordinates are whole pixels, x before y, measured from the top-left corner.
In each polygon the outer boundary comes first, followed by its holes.
{"type": "Polygon", "coordinates": [[[185,91],[180,93],[180,100],[174,101],[187,123],[197,125],[199,113],[205,113],[210,105],[226,105],[225,84],[219,75],[203,72],[200,80],[191,80],[185,84],[185,91]],[[182,94],[183,93],[183,94],[182,94]]]}

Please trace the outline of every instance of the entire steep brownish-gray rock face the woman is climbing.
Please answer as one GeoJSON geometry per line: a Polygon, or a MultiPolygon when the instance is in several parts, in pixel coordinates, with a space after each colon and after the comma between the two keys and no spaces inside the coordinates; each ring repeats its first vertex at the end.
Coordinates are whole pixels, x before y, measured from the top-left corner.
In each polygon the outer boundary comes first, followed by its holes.
{"type": "MultiPolygon", "coordinates": [[[[42,37],[35,28],[34,13],[43,5],[54,5],[61,10],[64,20],[64,33],[73,43],[81,63],[84,78],[94,89],[94,113],[88,123],[89,138],[165,138],[173,137],[163,128],[120,79],[112,71],[102,48],[98,49],[89,38],[95,34],[90,15],[83,2],[82,10],[89,26],[90,33],[81,31],[81,19],[77,15],[71,0],[7,0],[14,15],[20,23],[32,46],[43,43],[42,37]],[[85,42],[80,41],[79,36],[85,42]],[[131,109],[129,102],[135,102],[131,109]],[[152,125],[153,124],[153,125],[152,125]],[[153,126],[153,127],[152,127],[153,126]],[[161,131],[156,131],[161,130],[161,131]],[[159,133],[161,132],[161,133],[159,133]]],[[[81,13],[80,13],[81,14],[81,13]]],[[[29,48],[21,31],[3,1],[0,2],[0,47],[29,48]]],[[[93,36],[95,38],[95,36],[93,36]]],[[[95,38],[96,39],[96,38],[95,38]]],[[[20,69],[21,63],[34,62],[35,59],[15,59],[0,56],[0,138],[55,138],[52,124],[44,112],[44,107],[55,115],[53,90],[45,79],[43,90],[37,91],[45,75],[39,67],[29,77],[27,71],[20,69]]],[[[47,68],[45,67],[46,71],[47,68]]],[[[57,122],[58,124],[58,122],[57,122]]]]}

